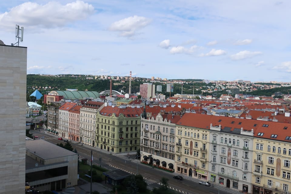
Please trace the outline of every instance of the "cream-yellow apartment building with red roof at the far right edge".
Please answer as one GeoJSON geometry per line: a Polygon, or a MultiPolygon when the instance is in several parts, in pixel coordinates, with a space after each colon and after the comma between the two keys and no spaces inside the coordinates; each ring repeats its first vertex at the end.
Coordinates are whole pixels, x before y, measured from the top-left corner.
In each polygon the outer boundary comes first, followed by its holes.
{"type": "Polygon", "coordinates": [[[253,193],[288,194],[291,191],[291,125],[257,123],[253,142],[253,193]]]}

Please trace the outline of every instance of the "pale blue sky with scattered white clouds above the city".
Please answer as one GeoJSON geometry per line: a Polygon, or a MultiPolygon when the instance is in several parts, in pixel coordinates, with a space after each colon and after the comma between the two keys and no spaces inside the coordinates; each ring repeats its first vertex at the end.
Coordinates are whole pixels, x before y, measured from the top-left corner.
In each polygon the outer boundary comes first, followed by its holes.
{"type": "Polygon", "coordinates": [[[27,74],[291,82],[291,1],[11,0],[0,40],[24,27],[27,74]]]}

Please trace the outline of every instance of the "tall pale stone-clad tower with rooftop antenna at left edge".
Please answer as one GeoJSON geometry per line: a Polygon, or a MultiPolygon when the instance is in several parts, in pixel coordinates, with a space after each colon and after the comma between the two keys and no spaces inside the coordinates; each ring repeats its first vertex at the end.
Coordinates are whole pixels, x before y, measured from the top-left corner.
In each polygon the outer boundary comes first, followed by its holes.
{"type": "Polygon", "coordinates": [[[0,193],[25,192],[26,65],[27,47],[0,40],[0,193]]]}

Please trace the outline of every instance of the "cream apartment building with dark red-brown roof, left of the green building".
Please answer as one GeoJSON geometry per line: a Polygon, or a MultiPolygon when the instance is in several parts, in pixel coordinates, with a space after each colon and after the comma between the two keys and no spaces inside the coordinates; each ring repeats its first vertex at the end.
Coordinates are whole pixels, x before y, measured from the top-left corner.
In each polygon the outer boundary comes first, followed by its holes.
{"type": "Polygon", "coordinates": [[[80,142],[92,146],[96,145],[96,118],[98,110],[104,107],[104,102],[88,101],[80,109],[80,142]]]}

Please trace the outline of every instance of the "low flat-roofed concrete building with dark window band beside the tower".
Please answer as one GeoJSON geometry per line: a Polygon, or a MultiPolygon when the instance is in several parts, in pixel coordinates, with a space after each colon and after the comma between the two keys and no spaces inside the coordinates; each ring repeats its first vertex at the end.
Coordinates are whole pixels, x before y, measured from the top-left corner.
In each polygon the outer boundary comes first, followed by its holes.
{"type": "Polygon", "coordinates": [[[26,182],[39,191],[77,185],[78,154],[43,139],[26,141],[25,165],[26,182]]]}

